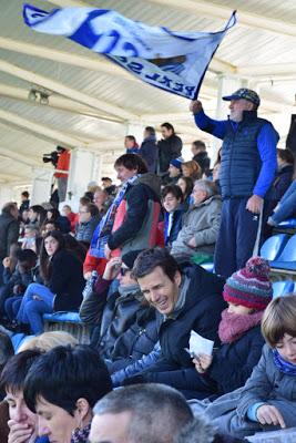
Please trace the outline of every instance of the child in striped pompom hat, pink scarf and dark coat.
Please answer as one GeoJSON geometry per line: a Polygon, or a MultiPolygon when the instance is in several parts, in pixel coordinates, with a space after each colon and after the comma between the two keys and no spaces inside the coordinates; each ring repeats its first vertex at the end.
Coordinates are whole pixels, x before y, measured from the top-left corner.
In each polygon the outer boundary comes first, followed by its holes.
{"type": "Polygon", "coordinates": [[[261,358],[261,320],[273,297],[268,261],[251,258],[226,280],[223,297],[228,308],[222,312],[218,327],[222,347],[214,356],[201,354],[193,360],[197,372],[214,382],[220,394],[243,385],[261,358]]]}

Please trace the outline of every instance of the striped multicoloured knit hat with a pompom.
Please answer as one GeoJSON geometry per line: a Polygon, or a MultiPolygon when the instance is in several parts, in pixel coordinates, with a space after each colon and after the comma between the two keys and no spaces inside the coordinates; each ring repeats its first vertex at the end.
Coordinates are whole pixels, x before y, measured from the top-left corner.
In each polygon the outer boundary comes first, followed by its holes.
{"type": "Polygon", "coordinates": [[[225,301],[263,310],[272,301],[273,286],[269,264],[261,257],[252,257],[245,268],[234,272],[224,285],[225,301]]]}

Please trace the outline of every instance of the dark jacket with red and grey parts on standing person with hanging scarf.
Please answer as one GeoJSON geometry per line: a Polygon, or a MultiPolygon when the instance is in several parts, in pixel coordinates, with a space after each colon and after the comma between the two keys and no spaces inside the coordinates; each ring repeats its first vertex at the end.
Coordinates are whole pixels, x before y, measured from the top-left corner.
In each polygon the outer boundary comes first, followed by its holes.
{"type": "Polygon", "coordinates": [[[154,174],[143,174],[129,186],[116,210],[108,246],[122,255],[155,246],[161,210],[161,183],[154,174]]]}

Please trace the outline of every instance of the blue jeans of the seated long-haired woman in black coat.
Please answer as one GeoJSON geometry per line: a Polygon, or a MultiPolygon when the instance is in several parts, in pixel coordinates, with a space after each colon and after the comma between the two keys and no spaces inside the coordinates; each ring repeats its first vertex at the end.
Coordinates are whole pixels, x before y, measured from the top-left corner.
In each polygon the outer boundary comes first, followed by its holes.
{"type": "Polygon", "coordinates": [[[42,316],[53,311],[54,293],[40,284],[31,284],[25,289],[17,320],[19,323],[29,323],[34,334],[43,332],[42,316]],[[35,296],[38,299],[35,299],[35,296]],[[40,300],[39,300],[40,299],[40,300]]]}

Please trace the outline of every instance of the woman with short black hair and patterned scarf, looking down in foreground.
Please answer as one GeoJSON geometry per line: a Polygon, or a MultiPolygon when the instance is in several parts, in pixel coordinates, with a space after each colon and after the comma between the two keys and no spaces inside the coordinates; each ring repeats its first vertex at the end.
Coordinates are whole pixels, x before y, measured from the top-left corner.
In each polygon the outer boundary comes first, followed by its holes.
{"type": "Polygon", "coordinates": [[[38,414],[40,435],[54,443],[84,443],[92,409],[111,390],[108,369],[98,351],[82,344],[57,347],[30,368],[24,400],[38,414]]]}

